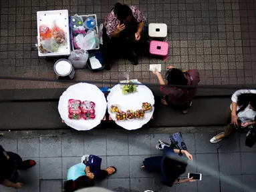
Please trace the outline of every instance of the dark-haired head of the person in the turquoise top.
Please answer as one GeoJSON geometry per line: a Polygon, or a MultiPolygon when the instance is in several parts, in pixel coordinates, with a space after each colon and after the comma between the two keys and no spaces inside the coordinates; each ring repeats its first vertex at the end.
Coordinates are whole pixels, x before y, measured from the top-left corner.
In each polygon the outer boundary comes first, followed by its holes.
{"type": "Polygon", "coordinates": [[[65,192],[73,192],[85,187],[92,187],[93,183],[86,175],[78,177],[76,181],[68,180],[64,183],[65,192]]]}

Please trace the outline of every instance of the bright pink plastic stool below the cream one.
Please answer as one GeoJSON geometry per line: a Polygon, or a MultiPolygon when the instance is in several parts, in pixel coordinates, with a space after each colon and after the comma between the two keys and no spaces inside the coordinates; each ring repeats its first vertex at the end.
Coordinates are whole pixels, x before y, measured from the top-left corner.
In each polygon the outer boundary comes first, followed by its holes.
{"type": "Polygon", "coordinates": [[[149,53],[162,57],[163,61],[168,59],[169,43],[164,41],[150,41],[149,53]]]}

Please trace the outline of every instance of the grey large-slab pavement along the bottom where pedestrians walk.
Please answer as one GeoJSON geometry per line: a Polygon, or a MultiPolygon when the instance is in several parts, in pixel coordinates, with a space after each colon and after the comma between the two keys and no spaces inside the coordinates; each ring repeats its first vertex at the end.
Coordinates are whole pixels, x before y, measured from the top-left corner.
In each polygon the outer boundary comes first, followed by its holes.
{"type": "MultiPolygon", "coordinates": [[[[107,135],[52,135],[41,137],[0,138],[0,144],[37,165],[22,171],[24,187],[19,191],[60,192],[70,166],[84,154],[102,157],[102,167],[114,165],[118,172],[98,183],[115,191],[255,191],[256,147],[245,147],[245,135],[236,134],[218,144],[209,143],[213,133],[183,133],[193,163],[187,172],[203,174],[203,180],[164,187],[158,175],[140,169],[146,157],[160,155],[156,141],[168,141],[168,134],[108,133],[107,135]],[[246,187],[241,189],[241,186],[246,187]]],[[[184,174],[186,177],[186,174],[184,174]]],[[[0,186],[0,191],[16,191],[0,186]]]]}

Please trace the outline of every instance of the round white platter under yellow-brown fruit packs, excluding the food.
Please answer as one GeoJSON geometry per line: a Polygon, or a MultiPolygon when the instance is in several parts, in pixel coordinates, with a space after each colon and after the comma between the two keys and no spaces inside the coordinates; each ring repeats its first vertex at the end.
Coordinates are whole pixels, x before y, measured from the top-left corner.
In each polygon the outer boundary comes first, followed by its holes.
{"type": "MultiPolygon", "coordinates": [[[[136,110],[142,109],[142,103],[150,103],[152,106],[154,105],[154,95],[148,87],[145,85],[138,85],[136,93],[130,93],[128,95],[123,95],[122,89],[120,89],[120,84],[115,85],[111,90],[107,97],[108,100],[108,113],[110,113],[110,117],[116,121],[116,114],[111,113],[110,106],[111,105],[120,105],[120,110],[136,110]]],[[[124,129],[134,130],[139,129],[148,121],[150,121],[153,113],[154,107],[152,107],[152,111],[149,113],[145,113],[145,117],[143,120],[134,119],[133,121],[116,121],[116,124],[123,127],[124,129]]]]}

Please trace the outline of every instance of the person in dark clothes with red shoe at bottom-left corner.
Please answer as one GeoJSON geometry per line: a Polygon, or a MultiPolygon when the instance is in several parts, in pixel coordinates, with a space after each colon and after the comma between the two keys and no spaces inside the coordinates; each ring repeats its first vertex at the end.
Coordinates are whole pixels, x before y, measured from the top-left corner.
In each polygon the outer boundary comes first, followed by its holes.
{"type": "Polygon", "coordinates": [[[5,187],[21,189],[22,183],[18,182],[17,170],[29,169],[35,165],[35,161],[22,161],[16,153],[5,151],[0,145],[0,184],[5,187]]]}

